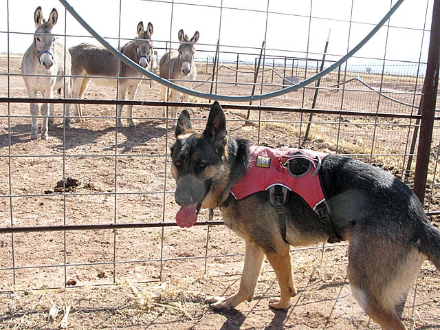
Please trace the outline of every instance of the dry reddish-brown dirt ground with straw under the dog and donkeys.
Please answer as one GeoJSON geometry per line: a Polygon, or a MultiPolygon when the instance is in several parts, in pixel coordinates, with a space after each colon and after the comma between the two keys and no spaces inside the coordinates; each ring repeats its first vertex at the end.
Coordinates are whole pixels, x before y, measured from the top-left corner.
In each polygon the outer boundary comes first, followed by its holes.
{"type": "MultiPolygon", "coordinates": [[[[8,72],[5,58],[0,63],[1,72],[8,72]]],[[[27,96],[16,75],[19,63],[12,58],[11,75],[0,76],[1,97],[27,96]]],[[[111,100],[115,89],[91,84],[85,97],[111,100]]],[[[159,86],[142,83],[136,99],[159,100],[159,86]]],[[[63,113],[61,104],[55,112],[63,113]]],[[[0,103],[0,228],[175,223],[178,208],[166,157],[174,133],[161,109],[136,106],[135,128],[122,120],[118,130],[114,106],[87,104],[84,113],[85,121],[70,130],[55,118],[49,140],[31,141],[29,104],[0,103]],[[56,186],[67,177],[78,182],[64,194],[56,186]]],[[[293,124],[244,126],[245,112],[225,113],[234,137],[296,146],[297,137],[285,138],[295,136],[293,124]]],[[[201,129],[208,109],[191,109],[191,115],[201,129]]],[[[282,122],[289,115],[263,118],[282,122]]],[[[393,140],[399,132],[393,130],[382,134],[393,140]]],[[[361,139],[355,136],[353,144],[361,139]]],[[[334,151],[318,138],[308,146],[334,151]]],[[[386,168],[401,175],[399,166],[386,168]]],[[[199,219],[207,221],[207,213],[199,219]]],[[[217,211],[214,221],[219,220],[217,211]]],[[[298,295],[287,311],[268,308],[279,287],[265,262],[255,298],[217,313],[203,299],[235,292],[243,267],[243,242],[223,225],[0,234],[0,329],[58,329],[67,316],[71,329],[379,329],[351,296],[346,249],[292,251],[298,295]]],[[[408,329],[440,328],[440,276],[428,262],[408,295],[404,323],[408,329]]]]}

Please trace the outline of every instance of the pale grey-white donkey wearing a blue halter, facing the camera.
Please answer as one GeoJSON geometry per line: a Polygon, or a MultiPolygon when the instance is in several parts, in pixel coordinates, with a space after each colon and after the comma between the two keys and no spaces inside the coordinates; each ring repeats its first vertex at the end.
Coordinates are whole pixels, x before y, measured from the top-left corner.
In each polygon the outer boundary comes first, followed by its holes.
{"type": "MultiPolygon", "coordinates": [[[[36,8],[34,13],[35,33],[34,42],[26,50],[21,61],[21,73],[25,80],[26,89],[30,98],[35,98],[39,91],[43,98],[54,98],[54,90],[64,87],[65,95],[70,94],[70,53],[65,52],[64,45],[55,41],[55,36],[51,34],[52,28],[58,21],[58,12],[52,9],[47,21],[43,19],[41,7],[36,8]]],[[[70,104],[65,104],[66,116],[65,125],[70,127],[70,104]]],[[[30,133],[31,140],[38,137],[39,105],[30,104],[30,114],[32,115],[32,128],[30,133]]],[[[48,124],[54,124],[54,104],[49,106],[47,103],[41,104],[41,139],[47,140],[48,124]],[[47,111],[49,108],[49,112],[47,111]]]]}

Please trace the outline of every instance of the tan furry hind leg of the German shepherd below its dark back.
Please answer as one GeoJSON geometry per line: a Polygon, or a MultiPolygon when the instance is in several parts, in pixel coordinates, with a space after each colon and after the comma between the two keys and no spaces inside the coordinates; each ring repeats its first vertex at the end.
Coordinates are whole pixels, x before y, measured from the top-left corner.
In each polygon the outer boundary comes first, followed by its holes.
{"type": "Polygon", "coordinates": [[[415,283],[423,257],[417,248],[390,240],[369,245],[352,239],[349,246],[351,291],[365,313],[384,330],[404,330],[401,311],[415,283]],[[385,249],[378,246],[387,245],[385,249]]]}

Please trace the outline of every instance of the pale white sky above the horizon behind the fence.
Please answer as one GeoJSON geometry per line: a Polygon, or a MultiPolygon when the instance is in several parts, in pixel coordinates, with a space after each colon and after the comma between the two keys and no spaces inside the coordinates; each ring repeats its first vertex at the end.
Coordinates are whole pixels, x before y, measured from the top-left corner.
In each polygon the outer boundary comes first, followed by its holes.
{"type": "MultiPolygon", "coordinates": [[[[390,28],[382,28],[356,54],[366,58],[418,61],[428,50],[433,0],[405,0],[393,14],[390,28]],[[427,2],[428,1],[428,2],[427,2]],[[428,14],[426,10],[428,8],[428,14]],[[427,16],[427,19],[425,19],[427,16]],[[423,41],[423,42],[422,42],[423,41]],[[422,54],[422,55],[421,55],[422,54]]],[[[388,0],[68,0],[91,28],[117,46],[118,37],[132,39],[140,21],[153,23],[155,49],[159,56],[177,32],[192,36],[199,31],[199,58],[213,56],[217,40],[221,58],[235,58],[225,52],[259,54],[265,41],[266,55],[321,58],[331,31],[328,59],[338,59],[371,31],[388,12],[388,0]],[[352,8],[353,4],[353,8],[352,8]],[[269,10],[269,14],[267,14],[269,10]],[[310,19],[309,17],[312,17],[310,19]],[[350,22],[350,17],[351,22],[350,22]]],[[[0,52],[23,54],[32,43],[34,11],[38,5],[47,18],[58,10],[52,32],[67,34],[59,41],[67,47],[80,42],[96,43],[89,33],[65,11],[57,0],[0,0],[0,52]],[[7,32],[10,32],[9,34],[7,32]]],[[[120,41],[122,44],[126,41],[120,41]]]]}

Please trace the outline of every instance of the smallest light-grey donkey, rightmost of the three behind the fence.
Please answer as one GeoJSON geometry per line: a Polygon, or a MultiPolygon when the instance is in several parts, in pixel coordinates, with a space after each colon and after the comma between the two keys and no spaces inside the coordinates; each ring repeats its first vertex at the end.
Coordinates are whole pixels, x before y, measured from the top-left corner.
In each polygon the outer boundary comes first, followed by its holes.
{"type": "MultiPolygon", "coordinates": [[[[175,79],[175,83],[186,88],[192,88],[192,83],[197,76],[197,69],[194,61],[195,47],[194,44],[199,40],[199,32],[196,31],[191,39],[188,39],[188,35],[184,33],[184,30],[180,30],[177,34],[179,37],[180,45],[179,50],[170,50],[166,52],[159,61],[159,76],[165,79],[175,79]]],[[[167,87],[162,85],[162,100],[166,101],[166,89],[167,87]]],[[[179,92],[170,89],[170,100],[172,102],[179,102],[179,92]]],[[[183,101],[188,102],[190,96],[183,94],[183,101]]],[[[164,117],[166,117],[166,109],[164,110],[164,117]]],[[[171,117],[173,118],[172,129],[175,128],[176,120],[176,107],[171,107],[171,117]]]]}

